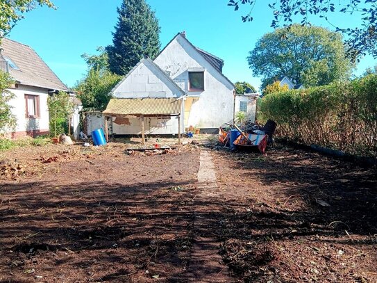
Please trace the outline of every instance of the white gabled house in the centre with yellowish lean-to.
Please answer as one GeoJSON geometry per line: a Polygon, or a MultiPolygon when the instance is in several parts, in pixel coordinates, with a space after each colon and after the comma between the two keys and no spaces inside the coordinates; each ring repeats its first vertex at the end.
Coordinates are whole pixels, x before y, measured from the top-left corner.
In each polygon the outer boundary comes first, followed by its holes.
{"type": "Polygon", "coordinates": [[[103,113],[112,116],[113,134],[140,134],[142,116],[146,134],[177,134],[179,119],[181,132],[190,126],[215,132],[233,120],[234,86],[223,66],[178,33],[154,61],[142,59],[112,90],[115,99],[103,113]]]}

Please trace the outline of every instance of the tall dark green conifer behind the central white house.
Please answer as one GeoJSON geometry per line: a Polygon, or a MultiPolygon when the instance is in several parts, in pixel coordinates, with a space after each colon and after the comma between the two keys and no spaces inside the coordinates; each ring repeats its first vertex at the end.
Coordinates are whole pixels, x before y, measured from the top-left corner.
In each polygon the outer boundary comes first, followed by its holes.
{"type": "Polygon", "coordinates": [[[143,56],[155,58],[160,51],[160,26],[145,0],[123,0],[112,33],[113,45],[106,48],[110,71],[127,74],[143,56]]]}

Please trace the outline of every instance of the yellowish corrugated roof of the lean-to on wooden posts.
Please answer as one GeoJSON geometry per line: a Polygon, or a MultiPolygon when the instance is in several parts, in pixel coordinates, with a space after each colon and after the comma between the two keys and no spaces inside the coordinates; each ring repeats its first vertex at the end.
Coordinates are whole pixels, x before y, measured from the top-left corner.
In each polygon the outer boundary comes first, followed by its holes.
{"type": "Polygon", "coordinates": [[[181,99],[175,98],[113,98],[103,114],[107,115],[179,115],[181,99]]]}

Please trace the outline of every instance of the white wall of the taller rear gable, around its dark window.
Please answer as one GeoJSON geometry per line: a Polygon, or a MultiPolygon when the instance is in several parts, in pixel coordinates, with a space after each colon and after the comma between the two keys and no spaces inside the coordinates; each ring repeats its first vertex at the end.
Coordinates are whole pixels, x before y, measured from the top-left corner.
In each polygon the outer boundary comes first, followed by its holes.
{"type": "Polygon", "coordinates": [[[201,129],[212,129],[233,120],[233,85],[181,35],[178,35],[154,62],[162,70],[170,72],[171,78],[188,95],[200,95],[192,104],[185,127],[192,125],[201,129]],[[188,90],[188,70],[192,68],[204,68],[204,91],[188,90]]]}

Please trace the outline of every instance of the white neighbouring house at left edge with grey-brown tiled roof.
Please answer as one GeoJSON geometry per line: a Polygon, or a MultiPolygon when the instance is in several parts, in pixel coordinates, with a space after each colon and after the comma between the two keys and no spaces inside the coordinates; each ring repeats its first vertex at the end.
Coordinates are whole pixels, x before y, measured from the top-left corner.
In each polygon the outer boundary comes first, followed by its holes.
{"type": "MultiPolygon", "coordinates": [[[[31,47],[2,38],[0,48],[0,69],[15,79],[15,84],[8,90],[15,94],[10,106],[17,118],[15,130],[3,134],[12,138],[49,134],[47,97],[60,90],[69,92],[67,86],[31,47]]],[[[81,102],[72,92],[69,94],[79,108],[81,102]]],[[[78,135],[78,109],[72,126],[75,136],[78,135]]]]}

